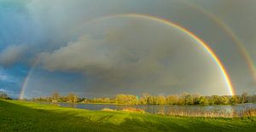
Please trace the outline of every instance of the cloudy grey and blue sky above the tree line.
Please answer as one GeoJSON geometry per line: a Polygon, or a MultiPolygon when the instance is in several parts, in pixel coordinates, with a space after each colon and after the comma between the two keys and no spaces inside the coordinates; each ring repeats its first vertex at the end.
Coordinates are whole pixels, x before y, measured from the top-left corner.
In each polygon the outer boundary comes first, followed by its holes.
{"type": "Polygon", "coordinates": [[[256,92],[254,0],[0,0],[0,91],[230,95],[256,92]],[[140,14],[147,17],[127,16],[140,14]]]}

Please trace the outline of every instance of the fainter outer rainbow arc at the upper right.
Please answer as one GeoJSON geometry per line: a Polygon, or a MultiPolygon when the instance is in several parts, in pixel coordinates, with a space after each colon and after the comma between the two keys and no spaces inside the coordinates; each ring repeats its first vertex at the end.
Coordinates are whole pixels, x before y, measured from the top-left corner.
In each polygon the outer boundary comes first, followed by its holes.
{"type": "Polygon", "coordinates": [[[250,70],[250,73],[252,73],[253,80],[256,82],[256,68],[253,65],[253,60],[248,55],[247,49],[243,46],[244,44],[241,43],[241,40],[236,36],[236,34],[230,29],[229,26],[227,26],[222,20],[220,20],[216,15],[208,12],[206,9],[203,9],[201,6],[197,6],[194,3],[189,3],[189,1],[183,1],[181,0],[180,2],[189,5],[189,7],[196,9],[200,11],[202,14],[207,15],[213,22],[215,22],[221,29],[224,30],[224,32],[230,37],[230,39],[235,43],[236,48],[239,49],[242,57],[245,59],[247,66],[250,70]]]}

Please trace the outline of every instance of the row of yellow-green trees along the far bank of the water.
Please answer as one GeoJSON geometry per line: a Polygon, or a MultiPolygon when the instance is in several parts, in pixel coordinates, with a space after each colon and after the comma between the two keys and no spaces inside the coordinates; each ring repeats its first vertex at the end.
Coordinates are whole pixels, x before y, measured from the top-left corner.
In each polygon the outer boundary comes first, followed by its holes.
{"type": "Polygon", "coordinates": [[[78,95],[69,93],[60,95],[54,92],[52,95],[40,98],[33,98],[37,101],[55,101],[55,102],[83,102],[83,103],[113,103],[123,105],[234,105],[242,103],[256,102],[256,95],[198,95],[183,93],[181,95],[115,95],[111,98],[79,98],[78,95]]]}

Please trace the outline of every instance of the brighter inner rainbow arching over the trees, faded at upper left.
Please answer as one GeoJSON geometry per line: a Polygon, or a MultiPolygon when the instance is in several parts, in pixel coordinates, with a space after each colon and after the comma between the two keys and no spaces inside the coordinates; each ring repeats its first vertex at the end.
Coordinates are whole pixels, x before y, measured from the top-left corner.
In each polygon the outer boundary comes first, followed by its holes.
{"type": "MultiPolygon", "coordinates": [[[[227,71],[226,71],[226,69],[224,67],[224,64],[221,62],[221,60],[218,59],[218,56],[207,45],[207,43],[205,43],[203,40],[201,40],[200,37],[197,37],[193,32],[189,32],[189,30],[185,29],[183,26],[179,26],[179,25],[177,25],[176,23],[174,23],[174,22],[172,22],[170,20],[161,19],[161,18],[152,16],[152,15],[148,15],[148,14],[114,14],[114,15],[108,15],[108,16],[103,16],[103,17],[96,18],[96,19],[93,19],[93,20],[89,20],[89,21],[87,21],[85,23],[96,22],[98,20],[113,19],[113,18],[117,18],[117,17],[131,17],[131,18],[140,18],[140,19],[145,19],[145,20],[154,20],[154,21],[160,22],[162,24],[165,24],[166,26],[175,27],[179,31],[186,33],[187,35],[189,35],[190,37],[195,39],[196,42],[200,43],[201,46],[207,51],[207,53],[209,55],[211,55],[212,60],[214,60],[214,62],[217,64],[219,70],[222,72],[222,75],[224,77],[224,80],[225,80],[225,83],[226,83],[226,86],[227,86],[227,88],[229,90],[230,95],[235,95],[234,87],[233,87],[233,85],[231,83],[230,77],[229,77],[229,75],[228,75],[228,73],[227,73],[227,71]]],[[[36,65],[34,64],[33,67],[32,67],[32,70],[30,72],[28,72],[28,75],[27,75],[27,77],[26,77],[26,79],[25,79],[25,81],[24,81],[24,83],[23,83],[23,85],[21,87],[21,90],[20,90],[20,100],[22,100],[23,97],[24,97],[24,93],[25,93],[27,82],[28,82],[29,77],[31,76],[32,71],[34,70],[35,66],[36,65]]]]}

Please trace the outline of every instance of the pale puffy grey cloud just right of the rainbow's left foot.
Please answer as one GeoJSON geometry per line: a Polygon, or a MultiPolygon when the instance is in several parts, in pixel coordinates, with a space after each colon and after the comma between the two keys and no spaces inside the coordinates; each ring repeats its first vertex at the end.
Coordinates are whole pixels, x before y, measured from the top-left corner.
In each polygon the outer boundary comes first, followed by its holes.
{"type": "Polygon", "coordinates": [[[38,59],[44,68],[51,71],[83,71],[91,66],[108,68],[110,52],[110,49],[104,48],[101,40],[95,41],[89,36],[82,36],[77,42],[70,42],[53,53],[40,54],[38,59]]]}

